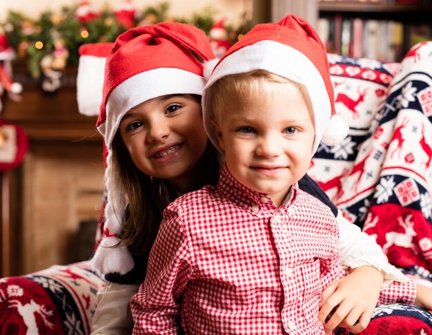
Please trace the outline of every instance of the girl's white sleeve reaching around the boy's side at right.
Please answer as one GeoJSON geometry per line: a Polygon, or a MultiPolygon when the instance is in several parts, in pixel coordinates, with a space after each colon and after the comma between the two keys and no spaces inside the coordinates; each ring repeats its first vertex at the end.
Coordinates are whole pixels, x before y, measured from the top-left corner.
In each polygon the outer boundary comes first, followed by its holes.
{"type": "Polygon", "coordinates": [[[363,265],[375,267],[384,274],[384,287],[393,280],[400,283],[406,283],[409,280],[401,271],[389,263],[387,256],[382,252],[382,248],[373,237],[346,220],[341,211],[337,213],[337,223],[339,224],[339,251],[342,257],[342,265],[351,267],[351,269],[363,265]]]}

